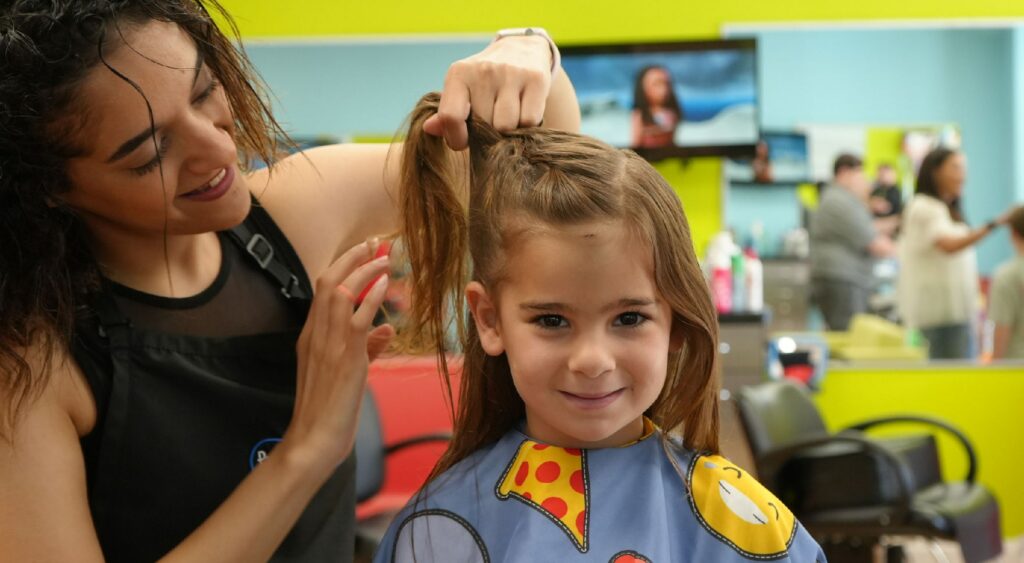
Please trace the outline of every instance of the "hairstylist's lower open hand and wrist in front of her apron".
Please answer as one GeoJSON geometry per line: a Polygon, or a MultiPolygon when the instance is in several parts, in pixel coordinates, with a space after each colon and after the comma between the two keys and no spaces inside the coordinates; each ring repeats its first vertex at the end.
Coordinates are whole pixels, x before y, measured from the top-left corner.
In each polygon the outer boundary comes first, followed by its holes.
{"type": "Polygon", "coordinates": [[[297,344],[295,412],[285,441],[325,470],[333,470],[351,451],[370,358],[386,347],[393,333],[386,326],[371,331],[384,301],[386,275],[354,305],[355,296],[388,271],[386,256],[371,260],[376,251],[372,247],[356,245],[316,279],[297,344]]]}

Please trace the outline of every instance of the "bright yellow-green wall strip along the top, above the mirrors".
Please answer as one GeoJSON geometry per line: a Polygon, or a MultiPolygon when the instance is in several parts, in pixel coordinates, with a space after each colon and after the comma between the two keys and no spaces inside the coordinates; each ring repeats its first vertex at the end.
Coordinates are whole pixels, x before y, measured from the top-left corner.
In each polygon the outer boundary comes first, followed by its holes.
{"type": "Polygon", "coordinates": [[[250,37],[480,33],[545,26],[559,41],[601,42],[717,35],[728,23],[1015,17],[1017,0],[221,0],[250,37]]]}

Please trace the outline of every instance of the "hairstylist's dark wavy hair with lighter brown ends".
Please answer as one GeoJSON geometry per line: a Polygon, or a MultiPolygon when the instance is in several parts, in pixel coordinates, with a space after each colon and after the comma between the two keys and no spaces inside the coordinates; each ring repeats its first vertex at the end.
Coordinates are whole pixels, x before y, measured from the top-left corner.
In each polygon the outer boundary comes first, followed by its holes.
{"type": "Polygon", "coordinates": [[[223,85],[244,164],[273,162],[278,139],[287,138],[251,63],[208,6],[237,39],[238,28],[216,0],[7,0],[0,6],[0,435],[44,387],[48,358],[67,345],[76,310],[98,287],[84,227],[60,196],[72,188],[67,161],[86,148],[88,118],[76,94],[124,34],[167,21],[195,41],[223,85]],[[29,350],[40,353],[42,369],[30,369],[29,350]]]}

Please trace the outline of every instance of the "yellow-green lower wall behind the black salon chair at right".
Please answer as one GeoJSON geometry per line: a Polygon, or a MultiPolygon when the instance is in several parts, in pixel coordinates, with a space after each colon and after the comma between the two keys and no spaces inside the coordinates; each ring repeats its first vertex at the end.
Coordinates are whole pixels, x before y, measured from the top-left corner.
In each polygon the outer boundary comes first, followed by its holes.
{"type": "MultiPolygon", "coordinates": [[[[978,453],[978,481],[994,491],[1006,536],[1024,533],[1024,369],[973,367],[831,371],[816,400],[833,430],[869,418],[927,415],[959,428],[978,453]]],[[[901,426],[889,433],[920,431],[901,426]]],[[[939,435],[942,472],[963,478],[967,458],[939,435]]]]}

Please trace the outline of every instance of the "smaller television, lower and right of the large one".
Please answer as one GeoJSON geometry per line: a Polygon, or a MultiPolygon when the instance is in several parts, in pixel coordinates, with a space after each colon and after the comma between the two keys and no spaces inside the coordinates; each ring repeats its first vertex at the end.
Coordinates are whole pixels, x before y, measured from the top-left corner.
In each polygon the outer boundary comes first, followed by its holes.
{"type": "Polygon", "coordinates": [[[731,183],[798,184],[811,181],[807,135],[797,131],[762,131],[754,157],[725,161],[731,183]]]}

